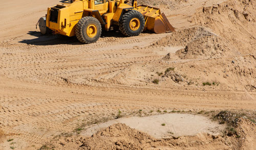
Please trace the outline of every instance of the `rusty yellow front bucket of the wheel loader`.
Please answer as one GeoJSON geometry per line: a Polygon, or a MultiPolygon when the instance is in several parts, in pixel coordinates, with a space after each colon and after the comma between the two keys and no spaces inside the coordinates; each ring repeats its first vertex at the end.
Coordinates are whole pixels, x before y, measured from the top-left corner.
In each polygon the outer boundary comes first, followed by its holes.
{"type": "Polygon", "coordinates": [[[175,29],[170,24],[164,13],[160,12],[160,9],[141,5],[137,10],[145,18],[145,30],[149,30],[154,33],[168,33],[175,32],[175,29]]]}

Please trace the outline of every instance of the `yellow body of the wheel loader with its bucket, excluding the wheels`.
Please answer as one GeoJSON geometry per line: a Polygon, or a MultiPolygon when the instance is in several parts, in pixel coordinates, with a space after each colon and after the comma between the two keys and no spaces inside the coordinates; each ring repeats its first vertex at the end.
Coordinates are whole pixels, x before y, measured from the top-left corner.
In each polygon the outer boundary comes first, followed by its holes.
{"type": "Polygon", "coordinates": [[[106,31],[113,24],[118,25],[122,14],[126,10],[137,10],[145,18],[145,30],[155,33],[175,31],[160,10],[145,5],[133,6],[125,4],[124,0],[73,0],[66,1],[47,10],[46,26],[55,34],[75,36],[75,26],[85,16],[97,18],[106,31]]]}

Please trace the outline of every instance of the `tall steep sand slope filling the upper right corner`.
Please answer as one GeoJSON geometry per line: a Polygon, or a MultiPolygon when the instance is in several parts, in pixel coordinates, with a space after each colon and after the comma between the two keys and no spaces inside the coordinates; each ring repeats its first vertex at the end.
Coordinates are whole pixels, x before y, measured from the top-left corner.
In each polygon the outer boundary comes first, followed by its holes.
{"type": "Polygon", "coordinates": [[[194,20],[227,39],[240,53],[255,53],[255,8],[255,1],[229,0],[198,9],[194,20]]]}

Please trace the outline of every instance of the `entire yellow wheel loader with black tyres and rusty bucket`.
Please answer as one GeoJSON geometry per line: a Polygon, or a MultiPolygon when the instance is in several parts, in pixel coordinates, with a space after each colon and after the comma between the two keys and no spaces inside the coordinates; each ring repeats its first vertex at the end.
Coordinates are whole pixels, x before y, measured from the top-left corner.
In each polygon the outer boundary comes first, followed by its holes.
{"type": "Polygon", "coordinates": [[[124,0],[71,0],[47,10],[47,15],[38,21],[42,34],[76,36],[82,43],[96,42],[102,28],[109,31],[118,27],[125,36],[137,36],[143,30],[154,33],[174,32],[166,16],[158,8],[132,6],[124,0]]]}

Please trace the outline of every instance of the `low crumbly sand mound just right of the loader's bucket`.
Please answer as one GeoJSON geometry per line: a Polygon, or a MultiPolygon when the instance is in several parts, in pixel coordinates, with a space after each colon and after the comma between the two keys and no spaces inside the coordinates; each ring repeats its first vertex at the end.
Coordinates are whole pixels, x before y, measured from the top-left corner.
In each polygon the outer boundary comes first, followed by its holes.
{"type": "Polygon", "coordinates": [[[226,40],[203,27],[180,30],[153,44],[153,46],[156,45],[185,46],[176,52],[181,59],[219,58],[233,54],[226,40]]]}

